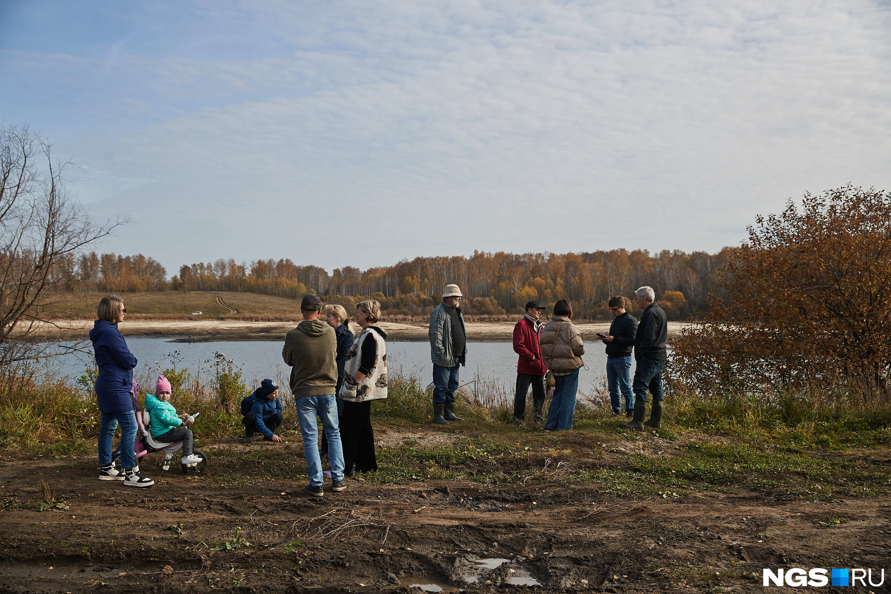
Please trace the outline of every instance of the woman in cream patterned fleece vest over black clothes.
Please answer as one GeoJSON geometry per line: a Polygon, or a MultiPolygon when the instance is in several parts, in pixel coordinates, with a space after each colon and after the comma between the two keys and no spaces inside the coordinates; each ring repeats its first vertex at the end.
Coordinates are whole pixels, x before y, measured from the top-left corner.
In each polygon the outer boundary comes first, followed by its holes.
{"type": "Polygon", "coordinates": [[[373,299],[356,304],[356,321],[362,332],[347,354],[343,386],[338,395],[344,401],[340,413],[340,441],[347,476],[353,472],[374,472],[372,400],[387,397],[387,332],[377,326],[380,303],[373,299]],[[355,467],[355,468],[354,468],[355,467]]]}

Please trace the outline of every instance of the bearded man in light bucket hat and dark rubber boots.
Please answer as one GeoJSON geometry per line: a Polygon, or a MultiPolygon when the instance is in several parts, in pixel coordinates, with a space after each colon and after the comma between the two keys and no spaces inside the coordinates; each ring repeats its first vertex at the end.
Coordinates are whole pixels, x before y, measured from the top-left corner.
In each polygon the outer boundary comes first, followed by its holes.
{"type": "Polygon", "coordinates": [[[454,414],[454,391],[458,370],[466,363],[467,330],[461,313],[462,295],[458,285],[446,285],[442,303],[430,313],[430,358],[433,361],[433,422],[446,425],[463,420],[454,414]]]}

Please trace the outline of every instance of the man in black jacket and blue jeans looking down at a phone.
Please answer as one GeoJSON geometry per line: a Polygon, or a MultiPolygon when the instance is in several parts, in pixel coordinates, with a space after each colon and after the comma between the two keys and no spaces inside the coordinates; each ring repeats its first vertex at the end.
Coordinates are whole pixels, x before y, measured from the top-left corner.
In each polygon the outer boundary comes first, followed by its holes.
{"type": "Polygon", "coordinates": [[[609,299],[609,313],[613,321],[609,325],[609,335],[598,333],[607,346],[607,384],[609,404],[613,415],[622,413],[622,398],[625,396],[625,416],[634,415],[634,392],[631,389],[631,355],[634,339],[637,338],[637,320],[625,311],[625,297],[617,295],[609,299]]]}

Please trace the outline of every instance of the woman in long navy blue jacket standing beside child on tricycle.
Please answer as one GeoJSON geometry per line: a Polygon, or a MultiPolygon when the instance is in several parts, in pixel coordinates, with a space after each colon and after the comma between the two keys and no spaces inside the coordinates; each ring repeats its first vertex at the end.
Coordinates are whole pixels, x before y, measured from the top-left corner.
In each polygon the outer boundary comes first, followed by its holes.
{"type": "Polygon", "coordinates": [[[149,487],[155,484],[148,476],[143,476],[136,466],[133,443],[136,437],[136,419],[130,389],[133,387],[133,369],[136,358],[127,348],[127,341],[118,330],[118,323],[124,321],[127,309],[119,297],[102,297],[96,310],[90,340],[96,357],[99,377],[96,378],[96,401],[102,412],[102,425],[99,427],[99,480],[124,481],[135,487],[149,487]],[[111,459],[111,442],[120,424],[120,461],[123,471],[114,467],[111,459]]]}

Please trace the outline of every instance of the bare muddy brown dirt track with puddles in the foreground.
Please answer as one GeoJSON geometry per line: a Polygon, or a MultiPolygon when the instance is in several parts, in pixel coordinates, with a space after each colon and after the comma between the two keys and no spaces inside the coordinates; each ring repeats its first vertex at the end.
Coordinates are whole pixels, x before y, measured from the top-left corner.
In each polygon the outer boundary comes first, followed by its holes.
{"type": "MultiPolygon", "coordinates": [[[[391,431],[381,444],[406,436],[419,438],[391,431]]],[[[675,455],[677,446],[648,438],[635,447],[675,455]]],[[[567,486],[553,476],[504,486],[416,476],[410,484],[350,480],[344,492],[311,499],[305,481],[221,486],[215,478],[249,477],[252,467],[236,455],[248,449],[302,460],[299,443],[202,449],[210,462],[201,476],[163,473],[160,454],[151,454],[142,466],[156,484],[144,490],[96,480],[94,458],[4,456],[0,591],[407,592],[421,584],[753,592],[764,567],[878,568],[891,560],[885,496],[815,502],[733,486],[622,498],[603,484],[567,486]],[[34,509],[41,478],[68,509],[34,509]]],[[[633,453],[610,448],[600,464],[619,468],[633,453]]],[[[876,463],[887,464],[887,452],[881,456],[876,463]]]]}

